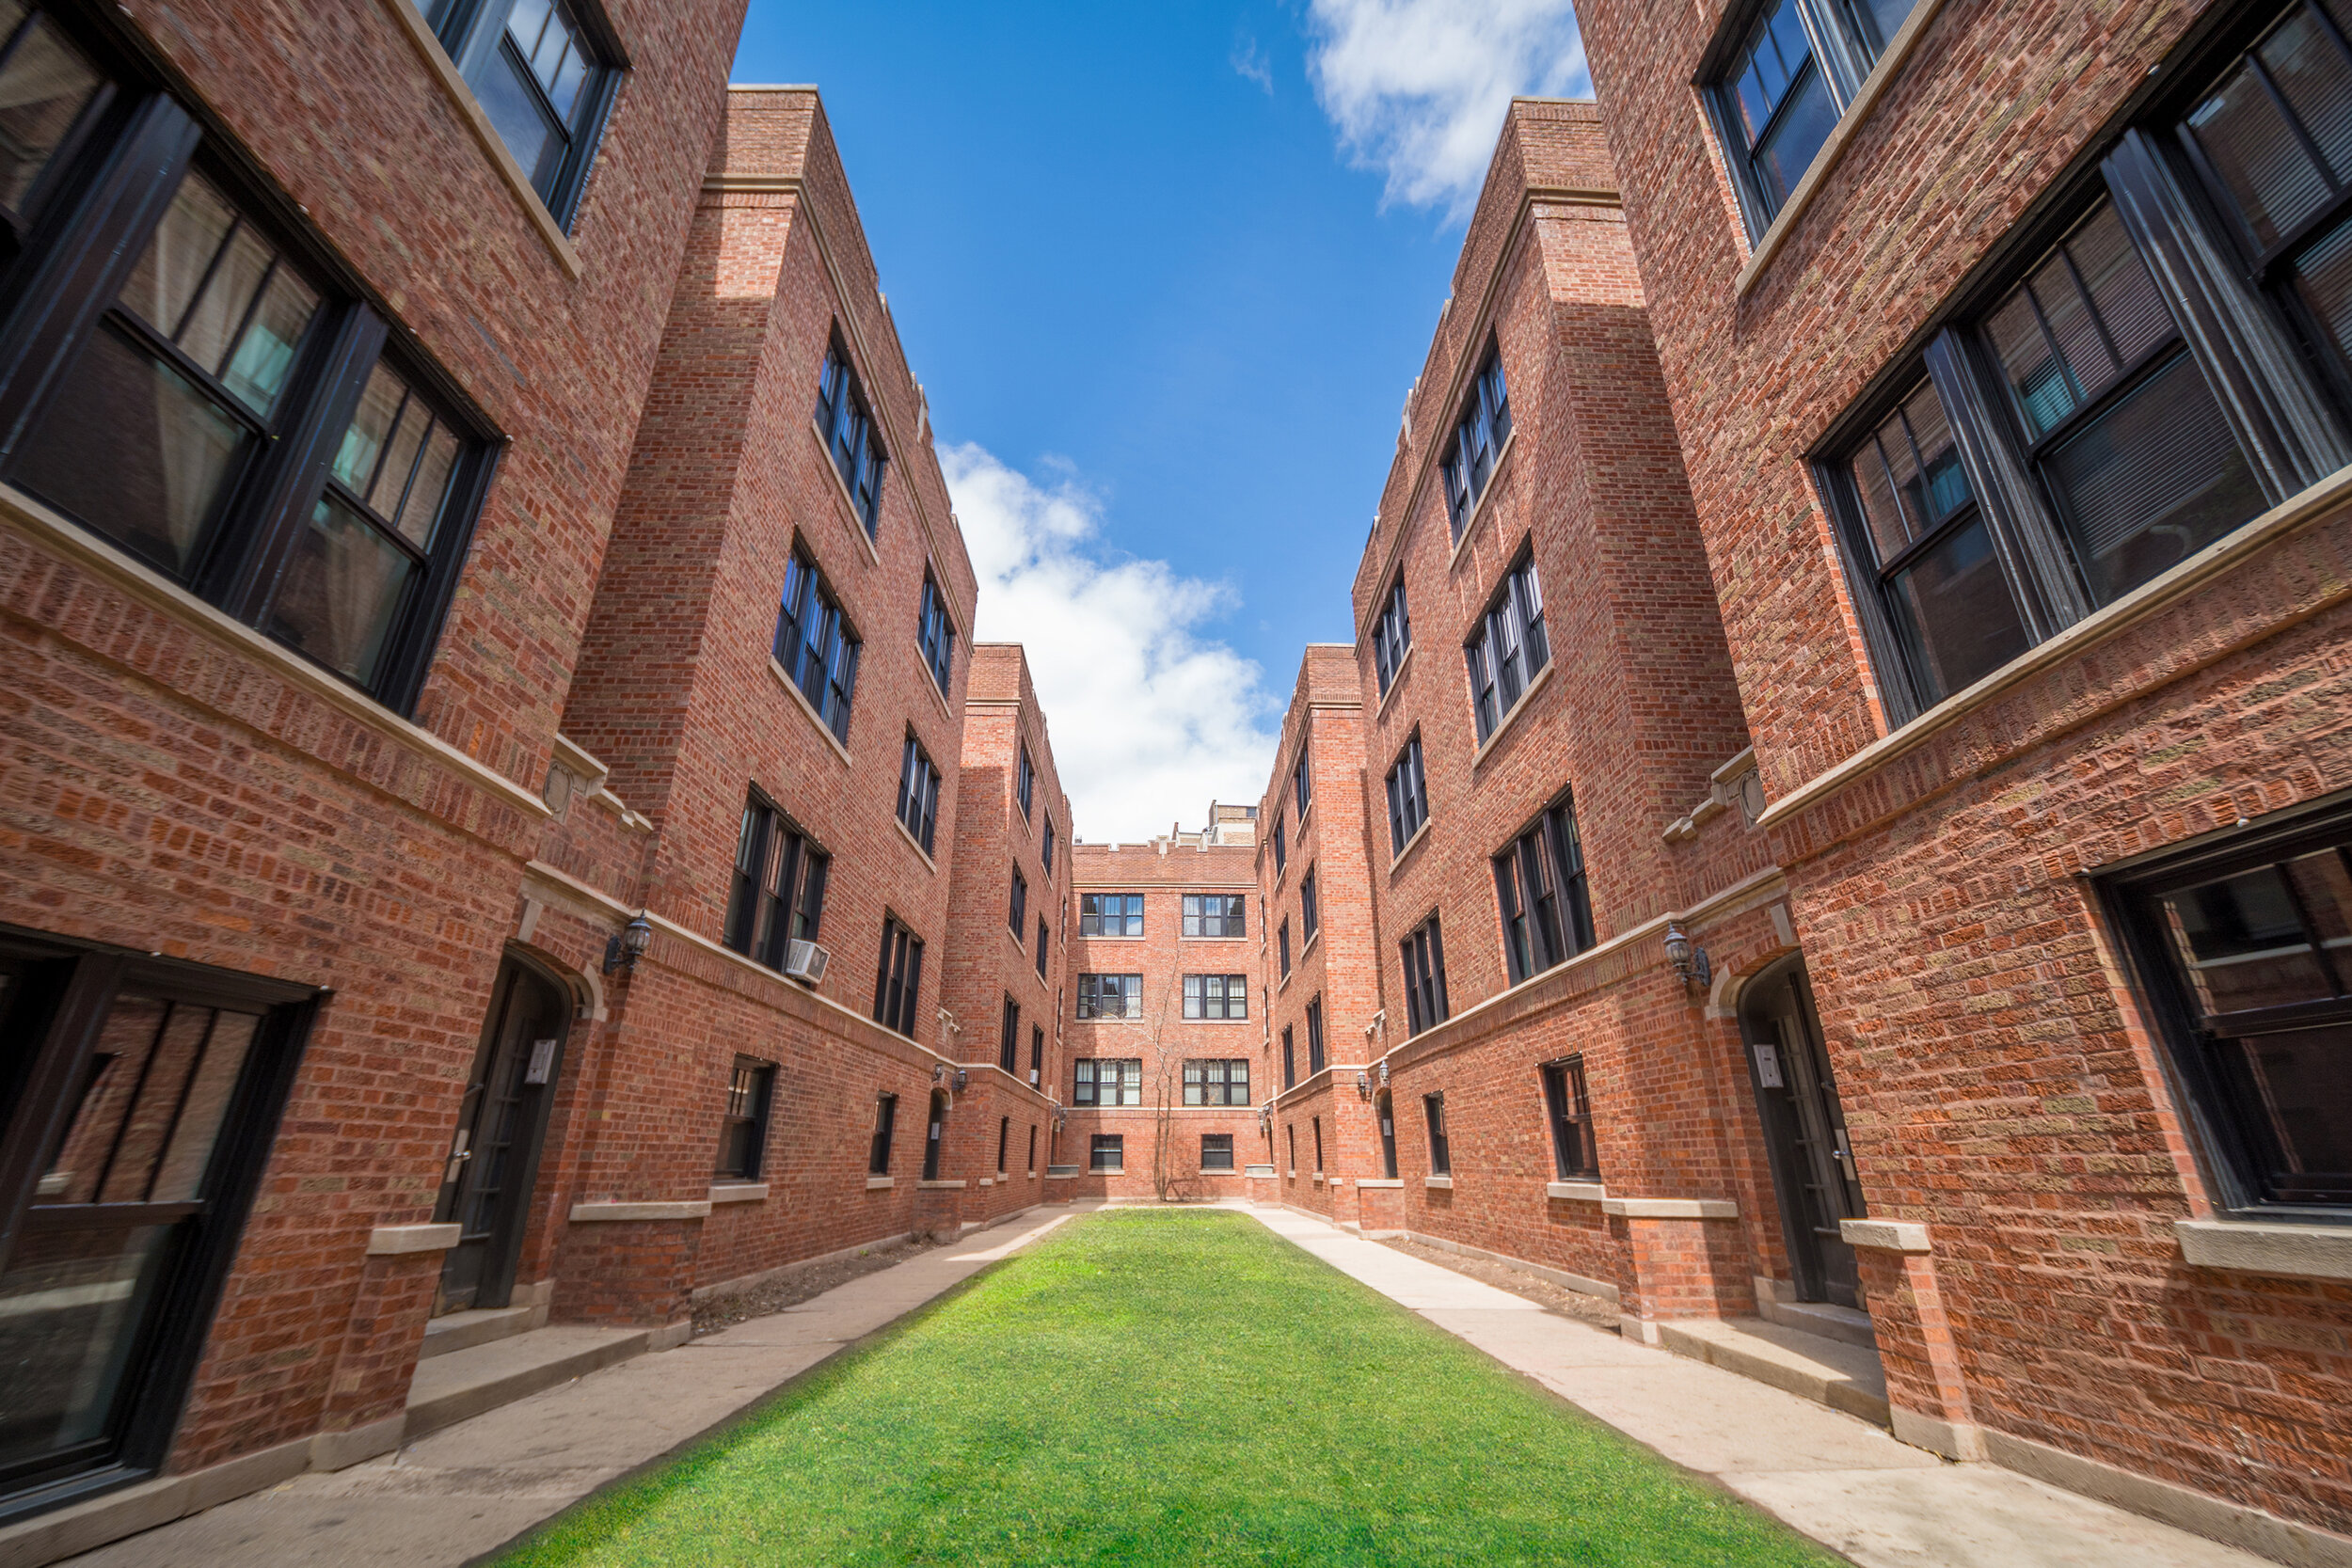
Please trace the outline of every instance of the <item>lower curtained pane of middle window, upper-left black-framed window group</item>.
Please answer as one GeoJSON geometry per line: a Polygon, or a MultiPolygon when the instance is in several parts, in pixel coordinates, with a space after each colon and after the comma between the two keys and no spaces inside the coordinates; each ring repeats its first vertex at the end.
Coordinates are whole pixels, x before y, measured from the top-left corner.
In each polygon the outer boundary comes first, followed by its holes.
{"type": "Polygon", "coordinates": [[[245,444],[245,428],[186,376],[101,329],[26,440],[16,477],[188,576],[245,444]]]}

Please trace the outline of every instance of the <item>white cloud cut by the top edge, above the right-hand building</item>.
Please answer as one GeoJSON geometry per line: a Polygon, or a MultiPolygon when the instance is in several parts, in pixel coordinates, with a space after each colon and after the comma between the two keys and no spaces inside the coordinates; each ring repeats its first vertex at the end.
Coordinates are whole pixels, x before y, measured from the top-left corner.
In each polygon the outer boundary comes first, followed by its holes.
{"type": "Polygon", "coordinates": [[[1592,92],[1571,0],[1310,0],[1308,73],[1341,146],[1388,200],[1477,205],[1519,94],[1592,92]]]}

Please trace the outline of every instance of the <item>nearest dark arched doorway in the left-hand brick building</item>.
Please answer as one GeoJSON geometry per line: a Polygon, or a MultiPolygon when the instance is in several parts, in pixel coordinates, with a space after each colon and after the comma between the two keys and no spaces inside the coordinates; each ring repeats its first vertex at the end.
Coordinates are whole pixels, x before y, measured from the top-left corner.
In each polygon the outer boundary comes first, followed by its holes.
{"type": "Polygon", "coordinates": [[[569,1018],[572,999],[560,985],[513,957],[499,966],[489,1027],[473,1056],[433,1208],[435,1222],[459,1225],[456,1246],[442,1260],[435,1316],[503,1307],[515,1291],[569,1018]]]}

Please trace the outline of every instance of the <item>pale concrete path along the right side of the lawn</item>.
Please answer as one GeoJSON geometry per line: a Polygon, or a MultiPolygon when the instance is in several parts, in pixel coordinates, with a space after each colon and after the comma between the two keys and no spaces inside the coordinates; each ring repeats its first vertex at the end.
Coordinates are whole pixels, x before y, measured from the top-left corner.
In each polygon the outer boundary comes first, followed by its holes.
{"type": "Polygon", "coordinates": [[[1863,1568],[2274,1568],[1994,1465],[1947,1465],[1882,1427],[1630,1345],[1324,1220],[1232,1208],[1863,1568]]]}

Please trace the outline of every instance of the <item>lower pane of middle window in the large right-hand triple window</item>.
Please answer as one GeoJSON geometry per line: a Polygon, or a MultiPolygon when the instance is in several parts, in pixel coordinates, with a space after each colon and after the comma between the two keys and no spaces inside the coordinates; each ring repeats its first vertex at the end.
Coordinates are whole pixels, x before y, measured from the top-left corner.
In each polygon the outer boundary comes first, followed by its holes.
{"type": "Polygon", "coordinates": [[[2187,355],[2044,463],[2098,602],[2138,588],[2263,510],[2263,487],[2187,355]]]}

